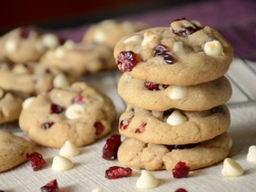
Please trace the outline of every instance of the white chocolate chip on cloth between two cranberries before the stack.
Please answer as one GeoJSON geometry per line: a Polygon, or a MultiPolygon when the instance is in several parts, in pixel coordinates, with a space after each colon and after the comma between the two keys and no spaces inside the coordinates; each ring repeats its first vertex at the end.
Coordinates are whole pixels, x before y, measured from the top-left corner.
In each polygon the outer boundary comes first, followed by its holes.
{"type": "Polygon", "coordinates": [[[159,180],[147,170],[142,170],[139,179],[136,182],[137,188],[156,188],[159,185],[159,180]]]}

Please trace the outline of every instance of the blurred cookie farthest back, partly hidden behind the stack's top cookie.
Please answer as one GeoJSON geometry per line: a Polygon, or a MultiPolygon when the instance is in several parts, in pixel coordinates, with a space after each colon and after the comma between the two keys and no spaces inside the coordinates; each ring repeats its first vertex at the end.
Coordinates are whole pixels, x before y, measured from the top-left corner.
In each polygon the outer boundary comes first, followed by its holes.
{"type": "Polygon", "coordinates": [[[117,21],[103,20],[99,23],[92,24],[84,33],[83,42],[96,42],[106,44],[112,49],[116,46],[121,37],[127,36],[136,31],[147,28],[148,26],[141,22],[135,21],[117,21]]]}

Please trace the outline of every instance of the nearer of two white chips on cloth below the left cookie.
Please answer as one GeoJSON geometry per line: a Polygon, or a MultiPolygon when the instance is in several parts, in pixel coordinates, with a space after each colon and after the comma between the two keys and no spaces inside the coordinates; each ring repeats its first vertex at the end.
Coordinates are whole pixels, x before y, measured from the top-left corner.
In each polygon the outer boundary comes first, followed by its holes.
{"type": "Polygon", "coordinates": [[[54,156],[52,161],[52,170],[57,172],[63,172],[71,169],[74,164],[70,159],[64,156],[54,156]]]}

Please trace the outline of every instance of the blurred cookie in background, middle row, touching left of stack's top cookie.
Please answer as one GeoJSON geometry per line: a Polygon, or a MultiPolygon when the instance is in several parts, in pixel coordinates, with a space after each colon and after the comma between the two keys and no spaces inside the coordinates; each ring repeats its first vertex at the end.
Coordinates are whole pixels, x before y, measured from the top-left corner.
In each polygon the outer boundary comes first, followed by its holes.
{"type": "Polygon", "coordinates": [[[71,40],[49,50],[40,60],[46,66],[82,76],[116,68],[113,51],[104,44],[82,44],[71,40]]]}

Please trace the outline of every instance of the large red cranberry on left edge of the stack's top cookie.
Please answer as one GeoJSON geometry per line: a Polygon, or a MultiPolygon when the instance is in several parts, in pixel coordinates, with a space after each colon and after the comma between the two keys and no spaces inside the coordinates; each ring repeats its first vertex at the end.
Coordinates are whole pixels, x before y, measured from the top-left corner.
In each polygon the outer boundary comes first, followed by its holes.
{"type": "Polygon", "coordinates": [[[139,61],[140,58],[135,52],[123,51],[117,56],[117,67],[123,72],[132,71],[139,61]]]}

